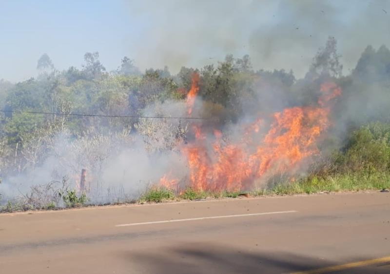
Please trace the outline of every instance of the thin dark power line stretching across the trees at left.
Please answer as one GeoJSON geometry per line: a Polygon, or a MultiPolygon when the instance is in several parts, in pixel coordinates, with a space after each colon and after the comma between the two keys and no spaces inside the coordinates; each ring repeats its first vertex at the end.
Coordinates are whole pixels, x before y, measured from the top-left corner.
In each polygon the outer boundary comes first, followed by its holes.
{"type": "Polygon", "coordinates": [[[40,111],[21,111],[21,110],[0,110],[2,113],[29,113],[29,114],[47,114],[47,115],[67,115],[81,117],[109,117],[109,118],[148,118],[148,119],[188,119],[188,120],[208,120],[202,117],[166,117],[166,116],[138,116],[138,115],[104,115],[104,114],[83,114],[83,113],[59,113],[59,112],[40,112],[40,111]]]}

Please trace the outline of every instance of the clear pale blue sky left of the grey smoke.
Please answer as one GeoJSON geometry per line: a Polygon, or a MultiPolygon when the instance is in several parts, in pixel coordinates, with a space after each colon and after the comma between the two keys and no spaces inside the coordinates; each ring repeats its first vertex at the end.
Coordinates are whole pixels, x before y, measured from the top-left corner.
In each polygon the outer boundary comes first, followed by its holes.
{"type": "Polygon", "coordinates": [[[0,78],[34,76],[43,53],[64,69],[99,51],[107,68],[115,68],[129,54],[127,38],[139,33],[126,9],[115,0],[1,0],[0,78]]]}

